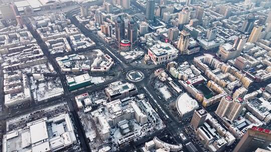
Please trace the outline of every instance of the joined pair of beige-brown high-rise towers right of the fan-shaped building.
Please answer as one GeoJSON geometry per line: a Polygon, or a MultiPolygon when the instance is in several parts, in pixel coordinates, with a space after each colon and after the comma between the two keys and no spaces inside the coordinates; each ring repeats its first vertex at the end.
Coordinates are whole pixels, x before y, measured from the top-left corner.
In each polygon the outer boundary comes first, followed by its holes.
{"type": "Polygon", "coordinates": [[[215,113],[220,117],[225,116],[232,121],[237,118],[245,104],[246,102],[242,97],[232,99],[231,96],[224,96],[221,99],[215,113]]]}

